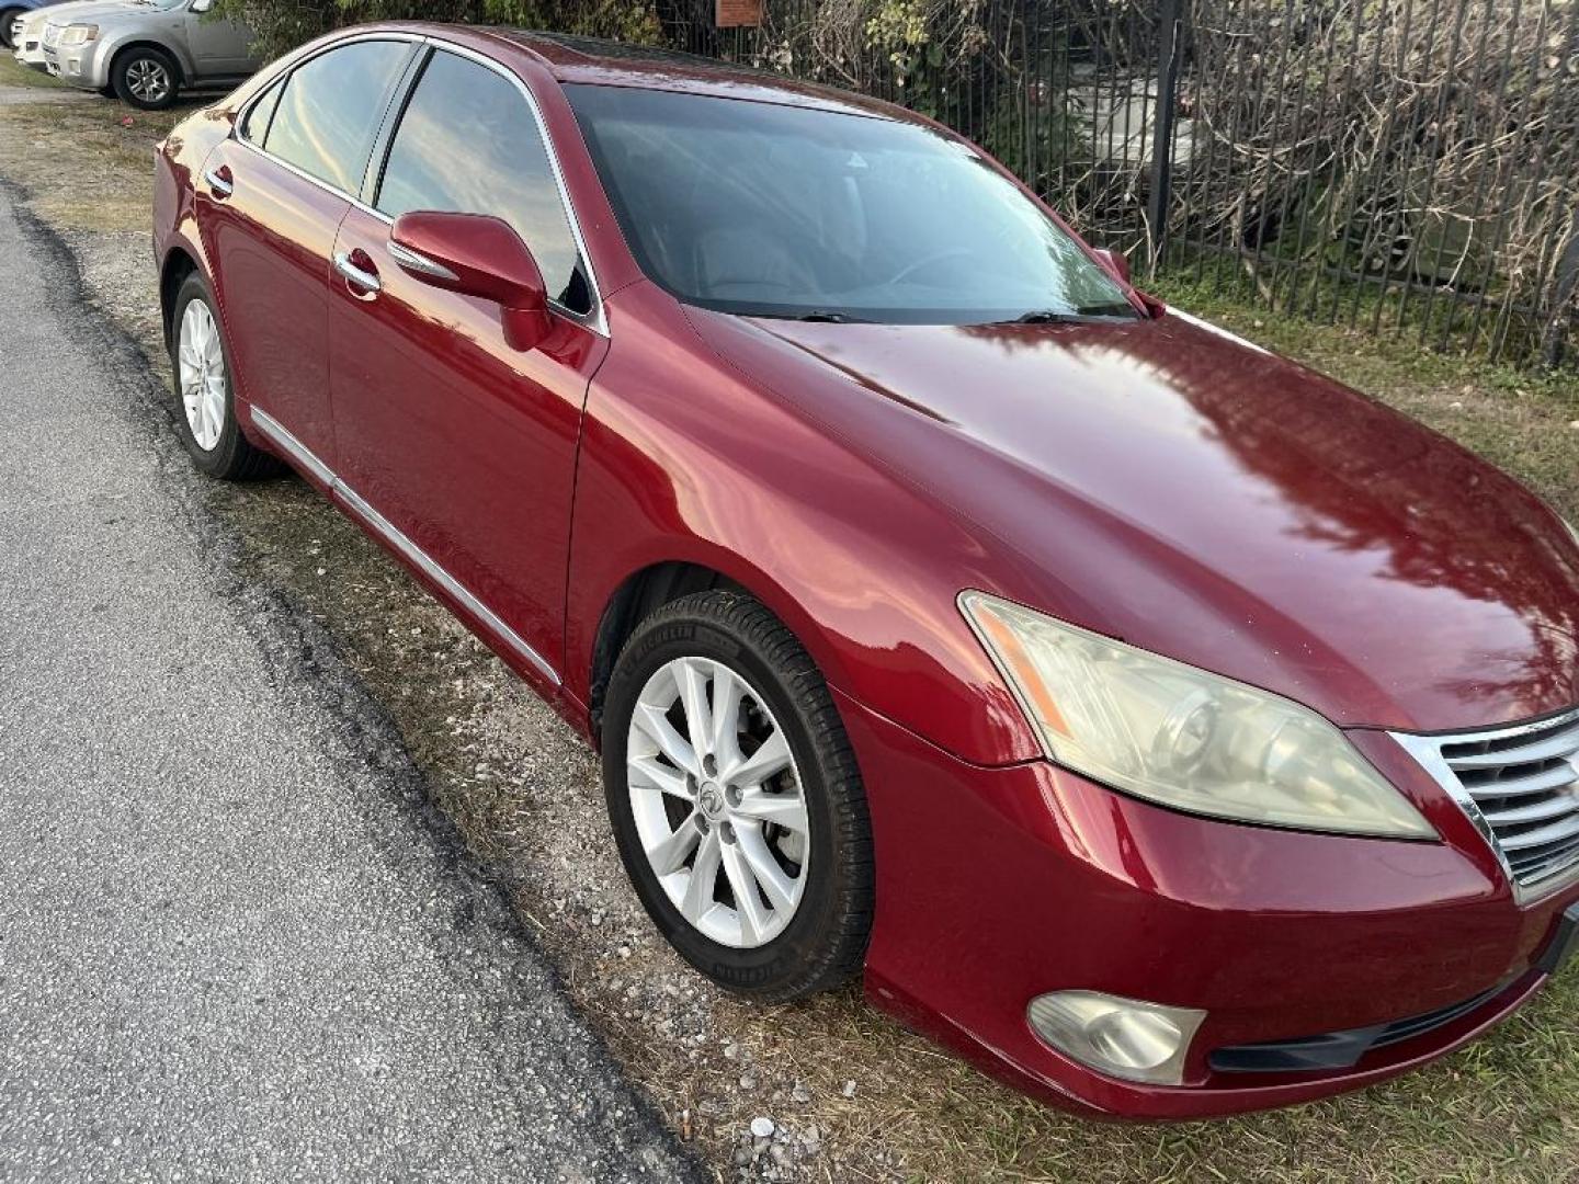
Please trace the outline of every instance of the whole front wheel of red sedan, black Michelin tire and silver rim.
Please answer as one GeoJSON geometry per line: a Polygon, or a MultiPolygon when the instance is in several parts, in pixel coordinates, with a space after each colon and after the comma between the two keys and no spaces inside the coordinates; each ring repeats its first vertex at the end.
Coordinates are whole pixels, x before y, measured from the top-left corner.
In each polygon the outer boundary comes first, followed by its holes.
{"type": "Polygon", "coordinates": [[[734,590],[698,592],[636,627],[605,703],[603,788],[643,906],[715,984],[780,1002],[861,969],[875,900],[861,770],[816,665],[761,603],[734,590]],[[734,704],[718,740],[699,742],[701,759],[681,739],[690,734],[687,699],[663,715],[671,695],[684,696],[682,682],[701,688],[690,703],[706,709],[696,712],[706,721],[720,693],[734,704]],[[731,684],[739,699],[720,690],[731,684]],[[663,731],[655,712],[671,726],[668,748],[655,739],[663,731]],[[758,777],[771,767],[778,772],[758,777]],[[731,780],[736,769],[742,775],[731,780]],[[755,908],[741,908],[741,882],[755,908]]]}

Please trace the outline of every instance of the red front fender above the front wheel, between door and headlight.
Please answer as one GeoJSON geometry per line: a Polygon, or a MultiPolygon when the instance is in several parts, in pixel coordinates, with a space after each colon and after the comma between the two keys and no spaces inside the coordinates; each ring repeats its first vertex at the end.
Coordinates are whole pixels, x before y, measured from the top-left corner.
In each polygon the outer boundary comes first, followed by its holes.
{"type": "Polygon", "coordinates": [[[587,395],[565,611],[565,690],[591,701],[603,611],[658,562],[712,568],[772,609],[831,685],[977,764],[1039,753],[960,614],[993,586],[941,507],[753,387],[647,283],[606,300],[587,395]]]}

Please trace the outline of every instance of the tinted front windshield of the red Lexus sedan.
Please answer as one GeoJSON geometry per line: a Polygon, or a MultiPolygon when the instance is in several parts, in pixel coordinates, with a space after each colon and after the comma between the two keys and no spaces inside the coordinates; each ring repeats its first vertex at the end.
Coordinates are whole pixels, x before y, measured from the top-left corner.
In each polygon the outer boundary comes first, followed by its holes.
{"type": "Polygon", "coordinates": [[[1018,188],[927,128],[658,90],[565,92],[636,260],[687,303],[905,324],[1137,316],[1018,188]]]}

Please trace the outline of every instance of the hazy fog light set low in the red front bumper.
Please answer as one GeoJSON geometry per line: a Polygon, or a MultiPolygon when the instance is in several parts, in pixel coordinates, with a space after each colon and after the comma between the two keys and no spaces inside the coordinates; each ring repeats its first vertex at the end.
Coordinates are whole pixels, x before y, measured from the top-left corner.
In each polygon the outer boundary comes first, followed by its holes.
{"type": "Polygon", "coordinates": [[[1180,1085],[1189,1042],[1206,1012],[1099,991],[1053,991],[1031,999],[1026,1018],[1053,1048],[1101,1073],[1180,1085]]]}

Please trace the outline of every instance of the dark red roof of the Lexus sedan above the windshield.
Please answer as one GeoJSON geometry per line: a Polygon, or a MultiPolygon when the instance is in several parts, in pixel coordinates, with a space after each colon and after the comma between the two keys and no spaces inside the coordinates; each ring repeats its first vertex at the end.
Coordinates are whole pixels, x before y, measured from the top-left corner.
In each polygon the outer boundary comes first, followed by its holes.
{"type": "MultiPolygon", "coordinates": [[[[444,28],[455,30],[456,27],[447,25],[444,28]]],[[[914,118],[903,107],[865,95],[853,95],[846,90],[785,77],[766,69],[681,54],[673,49],[527,28],[482,27],[477,32],[531,52],[548,66],[556,79],[565,84],[677,90],[878,118],[914,118]]]]}

